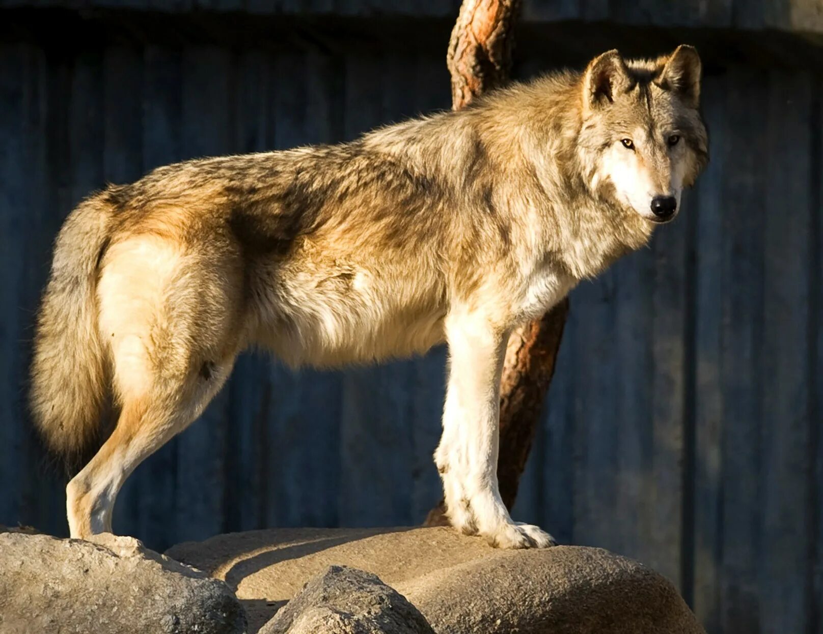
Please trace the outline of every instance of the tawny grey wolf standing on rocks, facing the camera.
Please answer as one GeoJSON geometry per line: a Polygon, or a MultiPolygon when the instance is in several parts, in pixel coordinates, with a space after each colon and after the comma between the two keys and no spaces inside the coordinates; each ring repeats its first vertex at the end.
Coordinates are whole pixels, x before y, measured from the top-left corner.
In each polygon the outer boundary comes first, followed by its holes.
{"type": "Polygon", "coordinates": [[[450,523],[500,548],[553,544],[500,499],[506,342],[677,215],[708,160],[700,73],[690,46],[611,50],[458,112],[189,160],[86,198],[56,239],[30,372],[46,445],[77,466],[93,454],[67,484],[72,537],[111,531],[123,481],[242,350],[339,367],[445,342],[450,523]]]}

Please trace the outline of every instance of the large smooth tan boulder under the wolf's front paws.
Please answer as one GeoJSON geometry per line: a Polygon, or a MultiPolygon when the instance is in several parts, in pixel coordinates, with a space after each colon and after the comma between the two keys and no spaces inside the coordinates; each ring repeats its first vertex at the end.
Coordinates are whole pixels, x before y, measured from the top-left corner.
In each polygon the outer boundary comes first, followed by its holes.
{"type": "Polygon", "coordinates": [[[275,529],[168,553],[225,579],[249,632],[310,577],[342,564],[378,575],[438,634],[704,634],[663,576],[599,548],[497,550],[449,528],[275,529]]]}

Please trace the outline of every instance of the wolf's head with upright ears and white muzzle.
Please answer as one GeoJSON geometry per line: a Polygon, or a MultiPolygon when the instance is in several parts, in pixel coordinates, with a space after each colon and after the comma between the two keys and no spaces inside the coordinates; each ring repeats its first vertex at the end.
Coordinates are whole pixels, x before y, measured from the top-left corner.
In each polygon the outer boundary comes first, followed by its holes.
{"type": "Polygon", "coordinates": [[[653,222],[672,220],[709,158],[697,51],[679,46],[651,61],[603,53],[588,64],[582,97],[579,152],[593,190],[653,222]]]}

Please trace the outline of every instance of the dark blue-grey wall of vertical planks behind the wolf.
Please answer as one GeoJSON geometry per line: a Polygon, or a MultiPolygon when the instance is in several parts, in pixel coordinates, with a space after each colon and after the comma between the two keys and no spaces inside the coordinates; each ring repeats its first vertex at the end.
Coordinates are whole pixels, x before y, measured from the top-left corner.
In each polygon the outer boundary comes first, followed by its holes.
{"type": "MultiPolygon", "coordinates": [[[[23,402],[72,206],[158,164],[447,107],[448,76],[442,47],[411,39],[22,31],[0,39],[0,522],[63,535],[63,484],[23,402]]],[[[523,50],[521,74],[551,67],[539,45],[523,50]]],[[[709,169],[650,248],[574,291],[515,515],[656,567],[712,634],[823,632],[821,73],[706,62],[709,169]]],[[[247,354],[202,420],[128,480],[115,529],[160,549],[263,526],[419,523],[439,499],[443,380],[443,349],[341,373],[247,354]]]]}

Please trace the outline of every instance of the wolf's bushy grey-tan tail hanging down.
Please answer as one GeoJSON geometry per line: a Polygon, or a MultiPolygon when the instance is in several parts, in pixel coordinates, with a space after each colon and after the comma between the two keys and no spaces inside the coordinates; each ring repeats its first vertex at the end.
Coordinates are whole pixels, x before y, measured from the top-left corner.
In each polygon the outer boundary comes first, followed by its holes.
{"type": "Polygon", "coordinates": [[[69,471],[95,448],[108,395],[95,290],[110,219],[111,208],[99,195],[68,216],[37,316],[31,413],[49,451],[69,471]]]}

